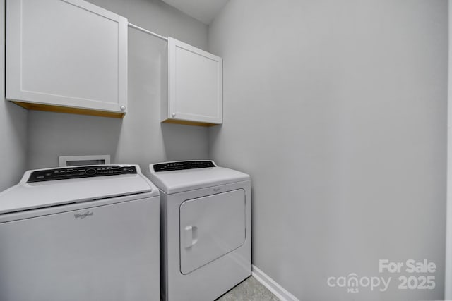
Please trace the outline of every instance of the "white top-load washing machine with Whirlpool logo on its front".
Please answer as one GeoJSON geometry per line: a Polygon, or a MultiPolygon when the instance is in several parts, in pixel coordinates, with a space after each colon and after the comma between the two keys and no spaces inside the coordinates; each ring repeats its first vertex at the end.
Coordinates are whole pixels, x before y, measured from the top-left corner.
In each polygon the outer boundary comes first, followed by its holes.
{"type": "Polygon", "coordinates": [[[136,165],[26,171],[0,193],[0,300],[160,300],[159,207],[136,165]]]}

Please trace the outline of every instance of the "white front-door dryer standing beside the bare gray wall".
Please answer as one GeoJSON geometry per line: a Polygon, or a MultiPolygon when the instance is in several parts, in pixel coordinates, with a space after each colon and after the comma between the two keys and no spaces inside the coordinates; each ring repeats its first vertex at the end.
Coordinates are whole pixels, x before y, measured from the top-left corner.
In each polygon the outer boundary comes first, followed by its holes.
{"type": "Polygon", "coordinates": [[[160,189],[162,300],[213,301],[251,275],[251,180],[213,161],[150,164],[160,189]]]}

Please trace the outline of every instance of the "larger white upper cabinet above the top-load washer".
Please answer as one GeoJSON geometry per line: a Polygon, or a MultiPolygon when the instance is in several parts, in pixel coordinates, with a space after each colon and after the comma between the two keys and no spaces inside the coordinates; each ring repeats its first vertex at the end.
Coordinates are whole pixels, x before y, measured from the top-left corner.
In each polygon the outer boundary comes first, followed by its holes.
{"type": "Polygon", "coordinates": [[[6,98],[27,109],[123,117],[127,25],[82,0],[7,0],[6,98]]]}

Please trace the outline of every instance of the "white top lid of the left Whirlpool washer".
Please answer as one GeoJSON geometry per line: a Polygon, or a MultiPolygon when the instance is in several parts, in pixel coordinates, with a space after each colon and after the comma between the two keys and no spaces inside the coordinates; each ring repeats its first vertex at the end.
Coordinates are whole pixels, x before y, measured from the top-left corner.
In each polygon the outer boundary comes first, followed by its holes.
{"type": "Polygon", "coordinates": [[[0,214],[124,195],[158,195],[157,188],[136,168],[138,173],[40,182],[29,182],[35,171],[26,171],[20,183],[0,192],[0,214]]]}

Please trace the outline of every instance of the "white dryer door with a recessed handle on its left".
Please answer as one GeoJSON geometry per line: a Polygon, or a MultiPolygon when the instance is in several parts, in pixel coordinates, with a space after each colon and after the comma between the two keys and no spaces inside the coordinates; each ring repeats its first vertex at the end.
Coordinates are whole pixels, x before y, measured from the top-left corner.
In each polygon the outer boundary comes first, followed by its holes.
{"type": "Polygon", "coordinates": [[[189,199],[180,207],[181,273],[212,262],[245,242],[242,189],[189,199]]]}

